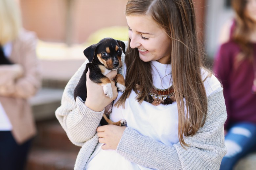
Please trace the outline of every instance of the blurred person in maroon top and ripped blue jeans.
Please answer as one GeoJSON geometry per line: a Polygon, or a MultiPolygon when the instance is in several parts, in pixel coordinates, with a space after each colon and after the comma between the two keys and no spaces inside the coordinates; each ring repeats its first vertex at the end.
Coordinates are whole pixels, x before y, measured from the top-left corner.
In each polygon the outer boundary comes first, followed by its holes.
{"type": "Polygon", "coordinates": [[[235,18],[222,29],[214,72],[227,108],[221,170],[256,150],[256,0],[232,0],[235,18]]]}

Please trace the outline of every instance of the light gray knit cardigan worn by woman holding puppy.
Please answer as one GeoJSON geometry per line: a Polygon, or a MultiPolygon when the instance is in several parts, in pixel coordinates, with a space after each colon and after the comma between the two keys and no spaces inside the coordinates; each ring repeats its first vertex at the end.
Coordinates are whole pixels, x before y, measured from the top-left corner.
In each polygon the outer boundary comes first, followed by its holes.
{"type": "MultiPolygon", "coordinates": [[[[104,113],[104,110],[92,111],[80,97],[74,100],[73,91],[86,64],[87,61],[66,85],[61,106],[56,110],[56,117],[69,140],[81,146],[74,170],[85,169],[98,144],[96,128],[104,113]]],[[[127,127],[116,151],[131,162],[157,170],[217,170],[226,154],[223,129],[226,118],[223,92],[220,91],[208,97],[205,124],[194,136],[184,138],[189,145],[185,149],[179,142],[168,146],[127,127]]]]}

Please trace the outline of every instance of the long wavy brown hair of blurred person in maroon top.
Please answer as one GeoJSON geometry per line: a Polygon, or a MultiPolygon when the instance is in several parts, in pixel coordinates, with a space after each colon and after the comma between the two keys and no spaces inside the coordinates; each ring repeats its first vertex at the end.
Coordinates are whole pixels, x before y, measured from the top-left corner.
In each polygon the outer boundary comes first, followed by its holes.
{"type": "Polygon", "coordinates": [[[244,59],[253,60],[253,45],[250,42],[249,36],[256,23],[246,15],[246,4],[247,0],[232,0],[232,7],[236,16],[235,28],[231,38],[242,50],[242,53],[237,56],[236,62],[238,63],[244,59]]]}

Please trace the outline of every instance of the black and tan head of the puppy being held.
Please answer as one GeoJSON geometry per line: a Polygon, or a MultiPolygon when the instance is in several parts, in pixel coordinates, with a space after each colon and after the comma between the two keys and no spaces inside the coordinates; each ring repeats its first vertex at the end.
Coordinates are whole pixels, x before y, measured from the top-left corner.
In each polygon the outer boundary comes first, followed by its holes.
{"type": "Polygon", "coordinates": [[[117,70],[122,66],[122,50],[125,54],[125,43],[113,38],[104,38],[99,43],[87,47],[83,54],[89,60],[100,61],[107,69],[117,70]]]}

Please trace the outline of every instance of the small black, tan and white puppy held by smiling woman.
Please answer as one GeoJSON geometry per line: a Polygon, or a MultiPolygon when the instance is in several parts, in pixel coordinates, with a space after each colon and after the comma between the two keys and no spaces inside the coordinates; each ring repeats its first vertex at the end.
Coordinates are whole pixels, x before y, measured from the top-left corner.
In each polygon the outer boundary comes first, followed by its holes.
{"type": "MultiPolygon", "coordinates": [[[[86,73],[90,69],[89,78],[92,82],[100,84],[103,86],[103,91],[105,95],[109,98],[113,98],[113,92],[111,88],[111,82],[105,74],[112,70],[118,70],[122,67],[121,55],[122,50],[125,54],[125,43],[113,38],[104,38],[99,43],[93,44],[87,47],[83,53],[85,57],[89,60],[82,76],[74,90],[74,99],[76,100],[79,96],[83,101],[87,97],[86,89],[86,73]]],[[[119,91],[125,91],[125,80],[121,74],[117,74],[115,77],[115,83],[119,91]]],[[[112,104],[112,103],[111,103],[112,104]]],[[[112,111],[112,105],[109,104],[105,108],[105,113],[101,120],[101,125],[114,124],[123,126],[126,124],[125,120],[118,122],[112,122],[109,119],[109,114],[112,111]]]]}

